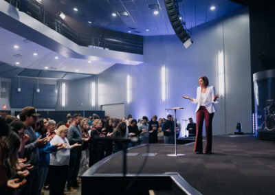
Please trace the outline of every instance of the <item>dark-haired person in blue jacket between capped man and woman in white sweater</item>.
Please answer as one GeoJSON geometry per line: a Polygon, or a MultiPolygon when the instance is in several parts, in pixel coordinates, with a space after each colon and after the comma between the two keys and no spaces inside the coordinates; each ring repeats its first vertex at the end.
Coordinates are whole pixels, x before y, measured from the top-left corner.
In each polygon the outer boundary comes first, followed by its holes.
{"type": "MultiPolygon", "coordinates": [[[[46,130],[44,128],[44,119],[38,119],[35,125],[36,137],[43,139],[46,137],[46,130]]],[[[52,137],[50,137],[52,139],[52,137]]],[[[41,194],[42,188],[44,186],[48,168],[50,165],[50,153],[56,152],[58,147],[61,147],[62,144],[51,145],[50,142],[47,142],[44,146],[39,148],[39,194],[41,194]]]]}

